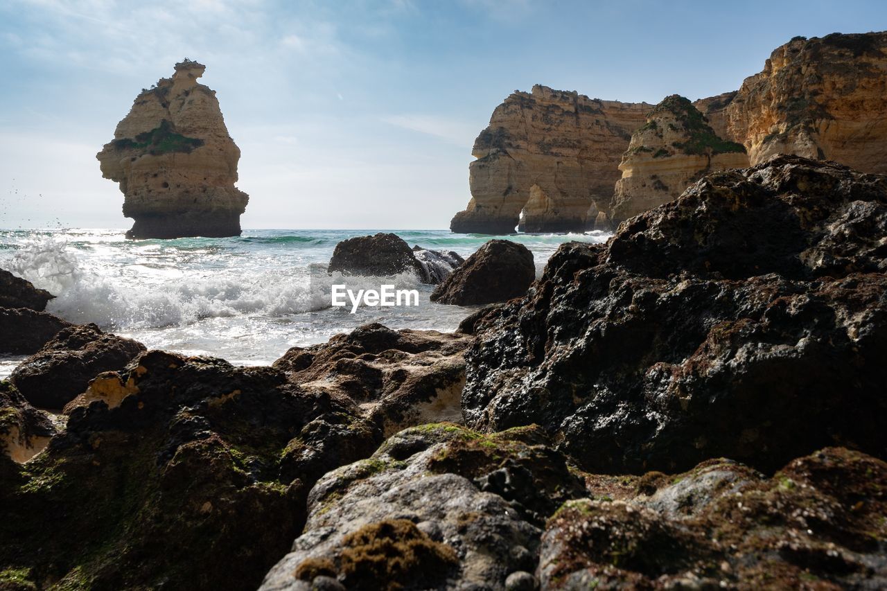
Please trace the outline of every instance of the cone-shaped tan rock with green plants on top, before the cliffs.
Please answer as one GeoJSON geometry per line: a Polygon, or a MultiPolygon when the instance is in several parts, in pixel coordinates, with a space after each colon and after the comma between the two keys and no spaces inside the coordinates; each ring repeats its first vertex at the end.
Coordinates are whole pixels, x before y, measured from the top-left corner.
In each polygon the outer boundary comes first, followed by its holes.
{"type": "Polygon", "coordinates": [[[666,97],[632,135],[619,164],[622,178],[616,181],[610,221],[616,226],[675,200],[709,172],[747,166],[742,144],[718,137],[687,98],[666,97]]]}

